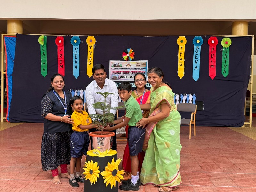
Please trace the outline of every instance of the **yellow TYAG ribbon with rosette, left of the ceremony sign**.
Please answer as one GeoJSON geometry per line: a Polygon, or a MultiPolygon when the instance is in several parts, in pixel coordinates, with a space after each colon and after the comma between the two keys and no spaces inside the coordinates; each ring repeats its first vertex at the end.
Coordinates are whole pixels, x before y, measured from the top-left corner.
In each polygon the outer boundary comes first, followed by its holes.
{"type": "Polygon", "coordinates": [[[88,36],[86,39],[86,43],[88,45],[87,48],[87,75],[89,77],[92,76],[92,67],[93,67],[93,54],[94,54],[94,44],[96,43],[96,39],[94,36],[88,36]]]}

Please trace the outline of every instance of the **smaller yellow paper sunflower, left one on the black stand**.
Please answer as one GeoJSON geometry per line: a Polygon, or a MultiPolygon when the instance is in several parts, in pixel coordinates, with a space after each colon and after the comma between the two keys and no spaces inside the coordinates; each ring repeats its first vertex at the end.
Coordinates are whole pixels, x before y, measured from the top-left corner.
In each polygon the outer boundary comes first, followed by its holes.
{"type": "Polygon", "coordinates": [[[84,179],[87,180],[89,179],[89,181],[95,184],[95,182],[97,182],[97,177],[99,176],[100,170],[99,170],[99,166],[98,166],[98,162],[93,163],[93,161],[91,160],[88,162],[85,162],[86,166],[84,169],[83,174],[85,175],[84,179]]]}

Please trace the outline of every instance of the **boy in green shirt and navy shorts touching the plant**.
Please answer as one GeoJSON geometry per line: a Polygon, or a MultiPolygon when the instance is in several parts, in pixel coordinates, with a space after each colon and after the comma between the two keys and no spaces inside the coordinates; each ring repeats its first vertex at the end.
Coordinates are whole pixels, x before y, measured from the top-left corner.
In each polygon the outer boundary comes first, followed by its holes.
{"type": "Polygon", "coordinates": [[[136,127],[136,123],[142,119],[142,113],[139,103],[131,97],[132,95],[132,85],[129,82],[122,82],[118,87],[118,94],[125,105],[125,117],[115,120],[113,124],[117,124],[113,127],[106,127],[105,130],[112,131],[128,124],[128,145],[130,149],[131,158],[131,170],[132,179],[123,182],[119,186],[119,189],[124,191],[138,191],[141,185],[139,179],[139,160],[138,153],[142,151],[145,129],[136,127]]]}

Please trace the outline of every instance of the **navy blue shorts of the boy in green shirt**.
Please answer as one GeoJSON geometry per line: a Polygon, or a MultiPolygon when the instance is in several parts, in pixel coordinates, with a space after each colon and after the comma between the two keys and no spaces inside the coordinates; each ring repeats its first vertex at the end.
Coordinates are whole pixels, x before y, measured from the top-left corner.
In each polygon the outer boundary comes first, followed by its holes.
{"type": "Polygon", "coordinates": [[[128,145],[130,155],[138,155],[142,151],[143,143],[145,138],[145,129],[138,127],[128,128],[128,145]]]}

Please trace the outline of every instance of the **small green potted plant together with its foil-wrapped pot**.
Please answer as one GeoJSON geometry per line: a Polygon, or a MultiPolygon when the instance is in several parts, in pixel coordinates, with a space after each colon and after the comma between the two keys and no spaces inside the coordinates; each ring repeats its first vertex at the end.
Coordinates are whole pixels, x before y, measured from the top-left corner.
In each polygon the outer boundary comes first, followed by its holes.
{"type": "Polygon", "coordinates": [[[112,147],[112,137],[115,135],[113,132],[103,132],[103,128],[108,124],[111,124],[114,121],[114,114],[110,113],[111,109],[119,109],[123,106],[111,107],[111,105],[106,104],[106,98],[110,94],[109,92],[97,92],[97,94],[102,95],[104,97],[104,102],[96,102],[92,106],[95,109],[100,109],[103,111],[103,114],[90,114],[90,117],[93,120],[93,123],[98,124],[98,130],[96,132],[90,132],[89,135],[92,137],[93,148],[99,149],[101,152],[106,151],[106,149],[110,150],[112,147]]]}

